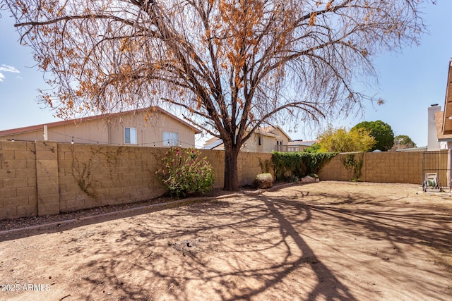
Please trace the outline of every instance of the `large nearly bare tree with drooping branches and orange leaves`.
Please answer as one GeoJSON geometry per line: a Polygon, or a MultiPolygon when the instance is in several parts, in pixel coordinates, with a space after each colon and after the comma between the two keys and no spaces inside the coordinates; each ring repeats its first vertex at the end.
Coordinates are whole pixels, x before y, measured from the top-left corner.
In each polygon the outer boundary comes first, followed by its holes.
{"type": "Polygon", "coordinates": [[[160,105],[223,140],[225,190],[263,123],[356,111],[380,51],[418,42],[429,0],[1,0],[63,118],[160,105]]]}

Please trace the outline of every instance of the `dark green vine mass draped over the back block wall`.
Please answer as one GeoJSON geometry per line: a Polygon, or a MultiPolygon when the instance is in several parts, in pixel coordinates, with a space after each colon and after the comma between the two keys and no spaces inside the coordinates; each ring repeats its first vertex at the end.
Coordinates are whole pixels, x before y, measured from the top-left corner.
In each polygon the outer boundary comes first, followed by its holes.
{"type": "Polygon", "coordinates": [[[275,168],[275,178],[278,181],[304,178],[315,173],[319,174],[323,166],[335,156],[332,152],[273,152],[271,159],[275,168]]]}

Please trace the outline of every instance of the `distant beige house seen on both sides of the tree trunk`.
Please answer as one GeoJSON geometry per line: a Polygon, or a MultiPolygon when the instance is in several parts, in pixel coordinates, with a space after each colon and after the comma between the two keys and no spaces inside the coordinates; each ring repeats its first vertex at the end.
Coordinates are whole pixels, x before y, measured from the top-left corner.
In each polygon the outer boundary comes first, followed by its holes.
{"type": "MultiPolygon", "coordinates": [[[[279,126],[267,126],[254,131],[242,145],[242,152],[287,152],[289,141],[289,135],[279,126]]],[[[204,143],[203,149],[225,150],[225,147],[221,139],[213,137],[204,143]]]]}

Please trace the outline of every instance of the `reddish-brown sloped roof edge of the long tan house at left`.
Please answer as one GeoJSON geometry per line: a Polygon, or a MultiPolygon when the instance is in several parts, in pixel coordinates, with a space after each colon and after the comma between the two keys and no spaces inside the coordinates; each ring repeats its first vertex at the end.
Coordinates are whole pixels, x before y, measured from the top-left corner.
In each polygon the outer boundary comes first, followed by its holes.
{"type": "Polygon", "coordinates": [[[114,118],[114,117],[118,117],[118,116],[124,116],[129,113],[141,113],[141,112],[147,111],[147,110],[158,111],[160,113],[164,113],[165,115],[179,121],[179,123],[182,123],[183,125],[186,125],[187,127],[191,128],[195,134],[201,134],[201,130],[198,130],[193,125],[186,123],[181,118],[174,116],[172,113],[165,111],[164,109],[160,108],[159,106],[152,106],[150,108],[143,108],[143,109],[138,109],[138,110],[124,111],[124,112],[119,112],[119,113],[109,113],[109,114],[102,114],[102,115],[96,115],[96,116],[88,116],[88,117],[83,117],[83,118],[70,119],[70,120],[66,120],[66,121],[56,121],[56,122],[52,122],[52,123],[42,123],[39,125],[30,125],[30,126],[26,126],[23,128],[13,128],[11,130],[0,130],[0,136],[33,132],[35,130],[41,130],[44,127],[44,125],[47,125],[47,127],[55,127],[55,126],[67,125],[67,124],[71,124],[71,123],[77,124],[77,123],[82,123],[82,122],[86,122],[86,121],[93,121],[93,120],[99,120],[99,119],[105,119],[105,118],[114,118]]]}

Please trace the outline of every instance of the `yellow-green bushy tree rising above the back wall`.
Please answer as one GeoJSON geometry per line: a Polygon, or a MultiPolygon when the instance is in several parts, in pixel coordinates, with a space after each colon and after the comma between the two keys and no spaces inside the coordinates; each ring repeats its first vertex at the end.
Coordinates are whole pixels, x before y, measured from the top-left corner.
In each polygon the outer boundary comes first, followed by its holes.
{"type": "Polygon", "coordinates": [[[367,152],[375,145],[374,137],[364,128],[327,128],[319,136],[319,152],[367,152]]]}

